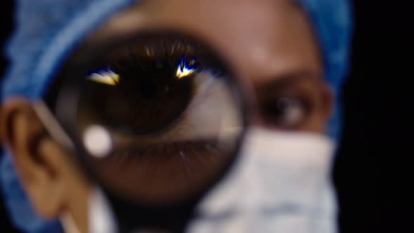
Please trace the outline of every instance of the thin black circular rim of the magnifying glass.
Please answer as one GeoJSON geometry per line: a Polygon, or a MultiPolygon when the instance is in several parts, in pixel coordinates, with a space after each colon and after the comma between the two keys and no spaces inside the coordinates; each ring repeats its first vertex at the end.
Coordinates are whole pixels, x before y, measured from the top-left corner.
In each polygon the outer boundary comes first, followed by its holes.
{"type": "MultiPolygon", "coordinates": [[[[76,50],[75,50],[76,51],[76,50]]],[[[102,189],[116,197],[117,199],[122,199],[125,201],[130,201],[131,203],[134,203],[136,206],[141,206],[142,208],[178,208],[180,206],[183,206],[188,203],[196,203],[199,202],[199,200],[208,192],[208,190],[212,189],[221,179],[225,176],[225,174],[229,171],[230,166],[234,164],[234,162],[238,159],[237,154],[239,154],[239,149],[241,147],[241,144],[243,143],[243,138],[246,133],[246,128],[248,126],[248,98],[246,97],[246,92],[243,91],[243,86],[241,86],[241,83],[236,78],[236,73],[232,72],[231,67],[228,66],[228,62],[224,59],[225,56],[220,55],[213,46],[206,43],[205,40],[199,38],[198,36],[194,34],[189,34],[187,32],[182,32],[178,30],[171,30],[171,29],[140,29],[136,31],[134,34],[131,34],[130,36],[125,36],[121,39],[114,40],[111,43],[109,43],[105,49],[97,50],[96,53],[89,54],[90,58],[87,58],[86,60],[89,60],[90,62],[86,62],[82,64],[82,67],[79,67],[79,69],[72,69],[74,74],[79,75],[72,75],[72,74],[65,74],[62,76],[63,79],[63,85],[65,88],[60,89],[60,94],[58,95],[58,99],[55,102],[56,112],[55,112],[55,119],[58,122],[58,124],[62,127],[64,133],[67,135],[69,140],[72,142],[73,148],[69,148],[73,150],[73,154],[76,157],[76,159],[79,161],[79,164],[81,166],[81,170],[86,173],[88,178],[91,178],[92,180],[95,180],[102,189]],[[209,185],[204,187],[203,189],[199,190],[199,192],[196,192],[194,194],[189,195],[189,197],[184,199],[177,199],[177,200],[170,200],[168,202],[160,201],[159,203],[147,203],[147,201],[140,202],[136,199],[128,199],[127,197],[124,197],[122,194],[117,193],[113,188],[109,187],[107,184],[105,184],[105,180],[100,177],[95,171],[93,171],[93,168],[91,168],[88,165],[88,161],[86,161],[86,154],[90,153],[87,152],[84,142],[82,142],[81,137],[79,133],[76,133],[76,109],[77,107],[77,95],[76,93],[79,93],[79,88],[76,88],[76,84],[79,83],[79,79],[81,79],[86,72],[88,72],[88,69],[90,68],[89,65],[93,64],[95,61],[100,60],[100,55],[107,54],[107,52],[112,51],[114,48],[119,48],[120,46],[128,43],[133,42],[136,39],[144,38],[144,37],[154,37],[157,36],[166,36],[172,37],[172,38],[185,38],[189,39],[190,42],[196,41],[197,43],[200,43],[203,48],[207,49],[209,51],[209,54],[213,55],[214,59],[218,60],[218,65],[220,65],[220,68],[223,69],[225,74],[228,74],[225,76],[225,82],[227,83],[227,88],[232,94],[232,98],[234,98],[235,103],[238,105],[241,113],[241,126],[243,127],[243,130],[241,131],[241,134],[239,135],[239,138],[236,141],[235,145],[235,156],[234,159],[230,159],[228,164],[226,164],[225,168],[220,171],[220,173],[209,182],[209,185]],[[225,67],[221,67],[225,66],[225,67]],[[68,76],[71,76],[72,79],[68,79],[68,76]],[[76,78],[74,78],[76,77],[76,78]],[[63,98],[65,97],[65,98],[63,98]],[[68,97],[70,101],[68,100],[68,97]],[[65,104],[62,103],[62,99],[65,99],[65,104]],[[69,111],[69,106],[72,106],[73,111],[69,111]]],[[[65,64],[65,63],[64,63],[65,64]]],[[[67,64],[66,64],[67,65],[67,64]]],[[[65,65],[63,66],[65,67],[65,65]]],[[[60,76],[58,72],[58,76],[60,76]]],[[[193,206],[194,207],[194,206],[193,206]]]]}

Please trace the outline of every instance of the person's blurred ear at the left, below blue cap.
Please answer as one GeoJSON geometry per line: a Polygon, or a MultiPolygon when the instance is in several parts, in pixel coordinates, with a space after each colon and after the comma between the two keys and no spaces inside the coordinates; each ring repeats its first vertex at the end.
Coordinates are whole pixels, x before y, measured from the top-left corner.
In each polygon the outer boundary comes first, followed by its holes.
{"type": "Polygon", "coordinates": [[[44,218],[58,218],[68,201],[68,156],[49,137],[22,98],[1,107],[0,138],[11,152],[23,189],[32,206],[44,218]]]}

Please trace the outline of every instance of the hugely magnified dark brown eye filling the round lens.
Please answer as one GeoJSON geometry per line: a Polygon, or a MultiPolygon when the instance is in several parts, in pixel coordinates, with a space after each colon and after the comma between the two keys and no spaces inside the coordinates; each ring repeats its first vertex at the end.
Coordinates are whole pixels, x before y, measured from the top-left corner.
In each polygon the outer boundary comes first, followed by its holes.
{"type": "Polygon", "coordinates": [[[243,131],[228,75],[182,36],[142,36],[105,53],[76,84],[86,161],[128,198],[199,192],[232,161],[243,131]]]}

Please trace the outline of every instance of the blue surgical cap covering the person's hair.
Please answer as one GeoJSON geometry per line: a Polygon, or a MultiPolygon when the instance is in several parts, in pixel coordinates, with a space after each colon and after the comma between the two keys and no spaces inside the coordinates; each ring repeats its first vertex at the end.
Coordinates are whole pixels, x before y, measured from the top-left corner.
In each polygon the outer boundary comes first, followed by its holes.
{"type": "MultiPolygon", "coordinates": [[[[328,133],[340,135],[340,88],[345,79],[352,34],[347,0],[296,0],[309,15],[325,65],[325,79],[335,90],[335,111],[328,133]]],[[[70,51],[102,21],[135,0],[18,0],[15,32],[6,44],[10,67],[0,86],[1,100],[20,95],[42,98],[70,51]]],[[[14,225],[24,232],[62,232],[57,221],[46,222],[32,211],[11,164],[1,158],[1,187],[14,225]]]]}

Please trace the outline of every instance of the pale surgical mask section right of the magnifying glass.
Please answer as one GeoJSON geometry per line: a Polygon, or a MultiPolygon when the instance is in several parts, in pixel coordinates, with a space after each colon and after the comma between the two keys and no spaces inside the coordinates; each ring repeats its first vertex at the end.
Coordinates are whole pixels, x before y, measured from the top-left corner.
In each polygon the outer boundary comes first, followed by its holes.
{"type": "Polygon", "coordinates": [[[188,232],[336,232],[334,149],[323,135],[251,128],[188,232]]]}

